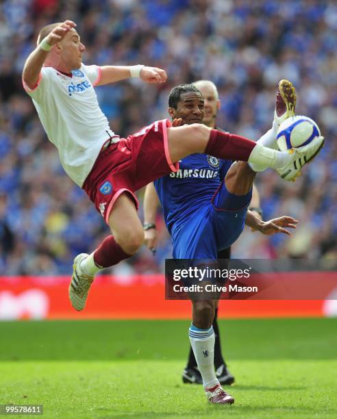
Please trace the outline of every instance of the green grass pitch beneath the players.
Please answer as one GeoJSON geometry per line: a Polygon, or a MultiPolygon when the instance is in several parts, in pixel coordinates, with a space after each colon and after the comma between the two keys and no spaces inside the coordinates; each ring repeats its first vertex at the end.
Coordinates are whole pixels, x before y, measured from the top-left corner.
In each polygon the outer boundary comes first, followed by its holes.
{"type": "Polygon", "coordinates": [[[337,319],[219,323],[232,406],[182,384],[188,320],[0,322],[0,404],[43,404],[44,418],[337,418],[337,319]]]}

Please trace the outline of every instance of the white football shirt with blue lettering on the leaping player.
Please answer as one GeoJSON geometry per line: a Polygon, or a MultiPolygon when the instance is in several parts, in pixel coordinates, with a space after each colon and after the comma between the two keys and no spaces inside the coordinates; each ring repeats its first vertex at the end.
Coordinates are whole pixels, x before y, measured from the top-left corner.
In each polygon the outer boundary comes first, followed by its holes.
{"type": "Polygon", "coordinates": [[[114,136],[94,90],[100,77],[99,66],[82,64],[72,77],[42,67],[36,88],[24,84],[64,170],[81,187],[104,142],[114,136]]]}

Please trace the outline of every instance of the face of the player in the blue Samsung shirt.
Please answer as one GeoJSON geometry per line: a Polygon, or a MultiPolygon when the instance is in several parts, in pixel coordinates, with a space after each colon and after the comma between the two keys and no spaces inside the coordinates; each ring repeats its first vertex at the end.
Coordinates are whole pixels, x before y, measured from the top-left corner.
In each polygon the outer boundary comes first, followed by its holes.
{"type": "Polygon", "coordinates": [[[183,124],[201,124],[204,113],[202,95],[199,92],[187,92],[182,93],[177,103],[177,109],[174,110],[174,115],[171,116],[182,118],[183,124]]]}

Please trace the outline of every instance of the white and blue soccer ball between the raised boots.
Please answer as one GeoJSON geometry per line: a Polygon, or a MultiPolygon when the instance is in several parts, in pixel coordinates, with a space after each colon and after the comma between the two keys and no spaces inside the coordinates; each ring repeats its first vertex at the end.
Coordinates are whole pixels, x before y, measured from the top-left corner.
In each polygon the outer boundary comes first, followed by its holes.
{"type": "Polygon", "coordinates": [[[281,151],[302,147],[321,136],[319,126],[308,116],[290,116],[279,125],[277,145],[281,151]]]}

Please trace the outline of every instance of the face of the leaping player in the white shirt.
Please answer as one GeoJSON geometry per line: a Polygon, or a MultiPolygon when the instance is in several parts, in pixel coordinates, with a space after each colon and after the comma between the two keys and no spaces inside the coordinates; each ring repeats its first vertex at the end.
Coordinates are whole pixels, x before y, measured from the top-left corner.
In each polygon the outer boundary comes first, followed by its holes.
{"type": "Polygon", "coordinates": [[[68,31],[59,43],[61,48],[61,59],[70,70],[77,70],[82,64],[82,55],[86,49],[82,44],[79,34],[75,29],[68,31]]]}

